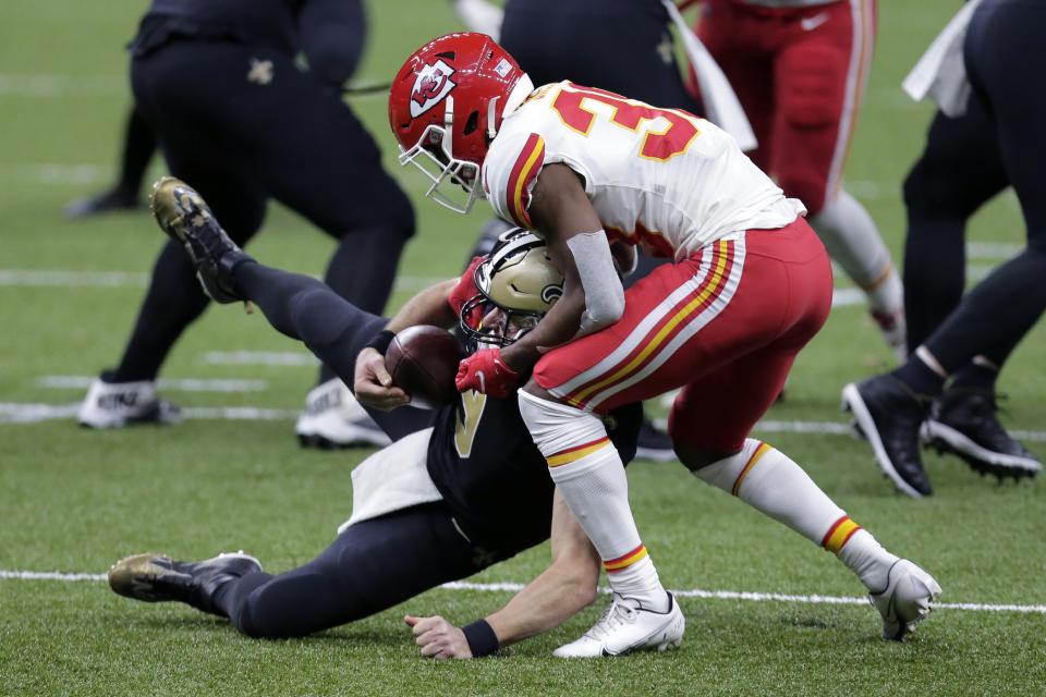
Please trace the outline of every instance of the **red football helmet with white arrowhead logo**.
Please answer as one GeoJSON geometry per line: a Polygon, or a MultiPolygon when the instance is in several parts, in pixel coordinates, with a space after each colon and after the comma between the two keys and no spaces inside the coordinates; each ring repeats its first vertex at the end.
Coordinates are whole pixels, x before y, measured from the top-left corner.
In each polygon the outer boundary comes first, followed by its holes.
{"type": "Polygon", "coordinates": [[[425,193],[466,213],[483,187],[479,168],[501,118],[534,89],[515,60],[486,34],[448,34],[414,51],[389,93],[389,125],[400,164],[413,162],[433,182],[425,193]],[[443,182],[457,184],[440,188],[443,182]]]}

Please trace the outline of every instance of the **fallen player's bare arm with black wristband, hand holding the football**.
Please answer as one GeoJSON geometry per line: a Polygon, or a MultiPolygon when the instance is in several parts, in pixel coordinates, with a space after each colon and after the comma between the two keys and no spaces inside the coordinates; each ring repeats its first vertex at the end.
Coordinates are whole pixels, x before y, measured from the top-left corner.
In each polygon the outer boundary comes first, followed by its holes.
{"type": "Polygon", "coordinates": [[[459,279],[450,279],[425,289],[400,308],[385,330],[356,355],[353,391],[361,404],[378,409],[391,409],[410,402],[406,392],[392,386],[392,376],[385,368],[385,350],[392,337],[415,325],[436,325],[450,329],[458,316],[449,298],[459,285],[459,279]]]}

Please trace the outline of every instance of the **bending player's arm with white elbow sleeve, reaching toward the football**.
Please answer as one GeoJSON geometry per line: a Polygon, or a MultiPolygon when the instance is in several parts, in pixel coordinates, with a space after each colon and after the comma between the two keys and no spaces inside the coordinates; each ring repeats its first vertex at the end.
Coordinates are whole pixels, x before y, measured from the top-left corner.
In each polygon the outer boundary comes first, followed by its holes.
{"type": "Polygon", "coordinates": [[[565,281],[562,297],[537,327],[501,351],[518,372],[533,366],[542,350],[598,331],[624,311],[610,244],[580,176],[565,164],[547,164],[534,185],[528,212],[565,281]]]}

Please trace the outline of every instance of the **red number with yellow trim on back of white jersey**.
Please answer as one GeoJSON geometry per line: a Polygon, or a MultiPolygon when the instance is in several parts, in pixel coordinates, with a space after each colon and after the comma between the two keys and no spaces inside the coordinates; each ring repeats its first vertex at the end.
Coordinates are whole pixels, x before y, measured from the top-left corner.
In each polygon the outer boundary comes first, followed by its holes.
{"type": "Polygon", "coordinates": [[[593,99],[613,107],[613,115],[610,117],[610,122],[629,131],[638,131],[646,121],[657,119],[667,121],[668,126],[664,131],[647,130],[646,137],[643,138],[640,157],[648,160],[664,162],[685,151],[690,147],[691,140],[701,133],[693,121],[676,110],[656,109],[635,103],[599,89],[576,91],[574,89],[561,89],[556,96],[556,100],[552,101],[552,109],[559,113],[563,123],[583,135],[588,135],[588,131],[596,120],[596,113],[582,106],[585,99],[593,99]]]}

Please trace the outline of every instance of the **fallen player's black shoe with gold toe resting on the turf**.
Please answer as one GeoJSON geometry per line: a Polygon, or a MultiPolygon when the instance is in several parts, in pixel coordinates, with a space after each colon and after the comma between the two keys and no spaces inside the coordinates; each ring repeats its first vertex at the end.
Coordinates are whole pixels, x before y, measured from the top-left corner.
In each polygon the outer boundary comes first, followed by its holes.
{"type": "Polygon", "coordinates": [[[180,562],[165,554],[135,554],[112,565],[109,586],[135,600],[178,600],[204,612],[224,614],[214,603],[218,589],[258,571],[262,563],[242,550],[223,552],[202,562],[180,562]]]}

